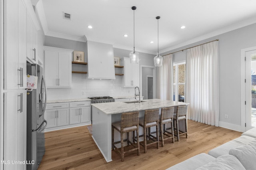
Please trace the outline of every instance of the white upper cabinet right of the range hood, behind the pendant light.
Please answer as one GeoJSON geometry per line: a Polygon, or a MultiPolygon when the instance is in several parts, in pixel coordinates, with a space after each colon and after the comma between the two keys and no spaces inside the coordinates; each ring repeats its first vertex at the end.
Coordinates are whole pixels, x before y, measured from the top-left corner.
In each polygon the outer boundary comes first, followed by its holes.
{"type": "Polygon", "coordinates": [[[124,65],[124,87],[139,86],[139,64],[130,63],[130,58],[121,58],[121,64],[124,65]]]}

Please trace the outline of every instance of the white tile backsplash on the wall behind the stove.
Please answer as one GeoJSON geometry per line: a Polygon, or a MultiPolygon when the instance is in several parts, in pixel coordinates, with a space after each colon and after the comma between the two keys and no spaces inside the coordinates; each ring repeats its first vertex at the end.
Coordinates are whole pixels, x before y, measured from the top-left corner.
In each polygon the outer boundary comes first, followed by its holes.
{"type": "Polygon", "coordinates": [[[47,88],[47,100],[83,99],[92,96],[133,96],[133,87],[122,87],[123,76],[115,80],[86,79],[84,74],[72,73],[72,87],[47,88]]]}

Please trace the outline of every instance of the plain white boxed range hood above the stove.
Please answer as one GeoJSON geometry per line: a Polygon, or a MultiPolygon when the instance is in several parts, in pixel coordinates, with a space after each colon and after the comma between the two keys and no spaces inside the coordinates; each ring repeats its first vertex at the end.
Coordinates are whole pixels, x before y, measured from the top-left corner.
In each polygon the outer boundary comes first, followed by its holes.
{"type": "Polygon", "coordinates": [[[87,41],[88,79],[116,79],[113,45],[87,41]]]}

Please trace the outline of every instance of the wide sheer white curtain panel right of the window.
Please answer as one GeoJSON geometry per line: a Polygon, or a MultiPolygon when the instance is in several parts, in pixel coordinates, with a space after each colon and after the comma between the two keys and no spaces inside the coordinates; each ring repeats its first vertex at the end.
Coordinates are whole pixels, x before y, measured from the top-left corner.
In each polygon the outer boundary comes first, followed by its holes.
{"type": "Polygon", "coordinates": [[[218,41],[188,49],[186,68],[188,119],[218,127],[218,41]]]}

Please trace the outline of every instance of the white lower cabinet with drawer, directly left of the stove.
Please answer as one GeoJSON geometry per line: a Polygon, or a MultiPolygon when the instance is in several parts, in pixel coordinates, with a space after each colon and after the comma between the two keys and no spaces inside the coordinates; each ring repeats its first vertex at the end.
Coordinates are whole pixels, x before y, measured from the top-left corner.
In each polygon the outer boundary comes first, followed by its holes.
{"type": "Polygon", "coordinates": [[[70,103],[70,117],[69,124],[90,122],[91,106],[90,102],[72,102],[70,103]]]}

